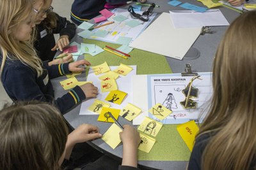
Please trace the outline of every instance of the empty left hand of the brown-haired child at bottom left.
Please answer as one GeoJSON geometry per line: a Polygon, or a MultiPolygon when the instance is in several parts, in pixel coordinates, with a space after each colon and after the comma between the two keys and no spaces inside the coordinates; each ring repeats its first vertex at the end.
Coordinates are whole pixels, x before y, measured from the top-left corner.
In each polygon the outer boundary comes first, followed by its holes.
{"type": "Polygon", "coordinates": [[[79,125],[73,132],[68,134],[68,140],[73,144],[83,143],[101,137],[102,134],[99,133],[99,128],[90,124],[79,125]]]}

